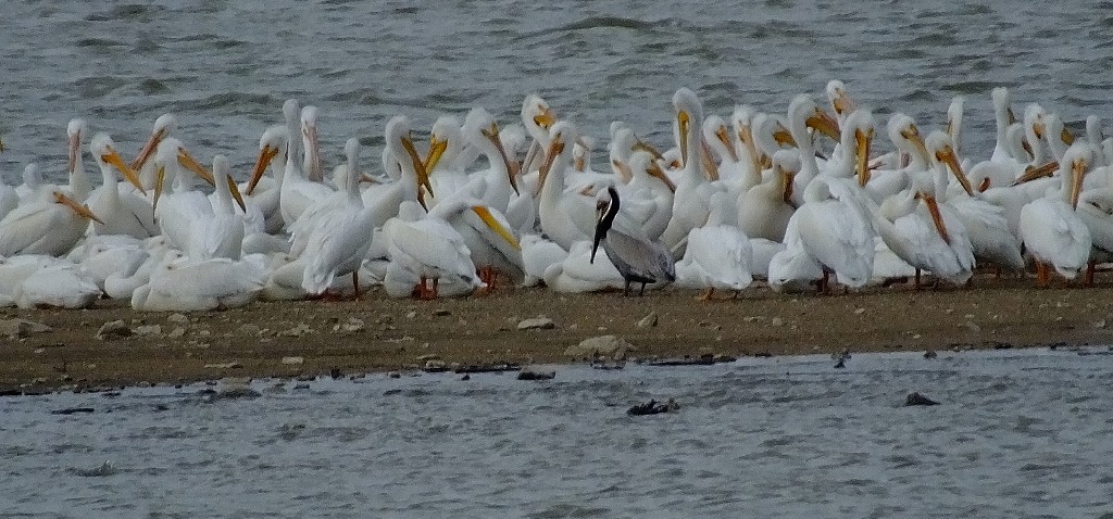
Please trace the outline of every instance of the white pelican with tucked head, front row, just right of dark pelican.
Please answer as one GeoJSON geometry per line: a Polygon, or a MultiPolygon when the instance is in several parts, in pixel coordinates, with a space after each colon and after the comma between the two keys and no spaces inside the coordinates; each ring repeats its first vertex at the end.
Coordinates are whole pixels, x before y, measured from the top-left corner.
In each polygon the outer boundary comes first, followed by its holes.
{"type": "Polygon", "coordinates": [[[733,224],[730,196],[717,192],[710,202],[707,223],[688,233],[688,249],[676,266],[677,285],[706,288],[706,300],[716,289],[739,291],[754,281],[750,239],[733,224]]]}

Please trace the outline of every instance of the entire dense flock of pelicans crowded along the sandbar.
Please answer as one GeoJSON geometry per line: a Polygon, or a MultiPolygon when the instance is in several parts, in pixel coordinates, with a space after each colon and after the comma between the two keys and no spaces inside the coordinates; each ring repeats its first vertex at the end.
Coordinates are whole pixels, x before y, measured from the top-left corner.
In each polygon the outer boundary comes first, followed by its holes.
{"type": "MultiPolygon", "coordinates": [[[[70,121],[66,184],[0,182],[0,305],[85,308],[99,298],[137,310],[207,310],[255,299],[484,293],[498,280],[561,292],[669,283],[742,290],[857,289],[922,272],[967,285],[976,266],[1046,286],[1051,271],[1093,281],[1113,251],[1113,138],[1101,120],[1074,137],[1031,103],[1014,116],[993,91],[996,143],[961,150],[963,98],[926,132],[893,113],[893,150],[874,152],[878,119],[846,86],[807,93],[787,113],[738,106],[705,114],[687,88],[672,97],[672,147],[610,127],[608,163],[593,140],[528,96],[521,122],[483,108],[433,124],[423,151],[410,120],[385,127],[381,168],[348,139],[325,171],[317,109],[283,106],[237,183],[229,161],[194,158],[175,119],[155,121],[131,161],[106,133],[70,121]],[[88,156],[86,154],[88,151],[88,156]],[[91,157],[100,171],[93,188],[91,157]],[[121,182],[122,180],[122,182],[121,182]],[[213,187],[206,194],[198,186],[213,187]]],[[[0,143],[2,151],[2,143],[0,143]]]]}

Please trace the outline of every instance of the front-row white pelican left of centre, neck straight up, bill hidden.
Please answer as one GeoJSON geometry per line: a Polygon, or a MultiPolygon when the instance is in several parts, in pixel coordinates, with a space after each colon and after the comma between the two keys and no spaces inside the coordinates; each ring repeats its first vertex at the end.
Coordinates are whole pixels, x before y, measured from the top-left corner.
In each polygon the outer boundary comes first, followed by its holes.
{"type": "Polygon", "coordinates": [[[371,246],[373,214],[359,196],[358,168],[359,140],[352,138],[344,144],[347,156],[347,184],[345,201],[316,217],[308,230],[302,288],[311,295],[321,295],[337,276],[352,275],[355,297],[359,297],[359,267],[371,246]]]}

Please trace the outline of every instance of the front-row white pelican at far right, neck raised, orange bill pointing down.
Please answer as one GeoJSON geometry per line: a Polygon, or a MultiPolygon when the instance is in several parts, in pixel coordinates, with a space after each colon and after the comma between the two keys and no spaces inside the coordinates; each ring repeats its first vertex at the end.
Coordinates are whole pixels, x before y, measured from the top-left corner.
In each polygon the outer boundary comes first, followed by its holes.
{"type": "Polygon", "coordinates": [[[1033,200],[1021,209],[1020,236],[1036,263],[1036,283],[1048,281],[1048,266],[1074,279],[1090,259],[1090,229],[1078,217],[1078,191],[1092,160],[1087,146],[1072,146],[1060,161],[1062,183],[1057,192],[1033,200]]]}

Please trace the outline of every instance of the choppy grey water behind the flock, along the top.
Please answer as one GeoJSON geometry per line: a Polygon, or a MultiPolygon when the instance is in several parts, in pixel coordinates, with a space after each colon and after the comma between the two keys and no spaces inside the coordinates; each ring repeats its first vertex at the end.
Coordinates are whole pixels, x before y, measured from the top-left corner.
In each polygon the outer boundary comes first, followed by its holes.
{"type": "Polygon", "coordinates": [[[600,148],[615,119],[666,142],[681,86],[729,114],[735,103],[782,111],[839,78],[878,114],[904,111],[928,128],[962,93],[975,158],[989,152],[995,86],[1067,121],[1113,108],[1110,1],[412,3],[6,1],[0,136],[10,150],[0,171],[11,181],[36,160],[60,178],[71,117],[134,153],[174,112],[196,154],[226,153],[245,176],[287,97],[321,108],[332,163],[348,137],[381,146],[390,116],[427,128],[482,104],[509,122],[529,92],[600,148]]]}

